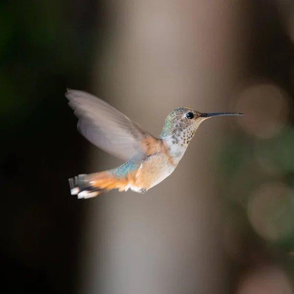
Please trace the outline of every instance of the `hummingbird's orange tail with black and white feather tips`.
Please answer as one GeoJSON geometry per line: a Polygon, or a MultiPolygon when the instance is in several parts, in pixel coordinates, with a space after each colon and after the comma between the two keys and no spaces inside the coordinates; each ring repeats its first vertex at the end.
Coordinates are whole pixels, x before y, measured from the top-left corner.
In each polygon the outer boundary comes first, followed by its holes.
{"type": "Polygon", "coordinates": [[[69,179],[71,194],[78,198],[92,198],[113,189],[124,190],[125,183],[110,172],[79,174],[69,179]]]}

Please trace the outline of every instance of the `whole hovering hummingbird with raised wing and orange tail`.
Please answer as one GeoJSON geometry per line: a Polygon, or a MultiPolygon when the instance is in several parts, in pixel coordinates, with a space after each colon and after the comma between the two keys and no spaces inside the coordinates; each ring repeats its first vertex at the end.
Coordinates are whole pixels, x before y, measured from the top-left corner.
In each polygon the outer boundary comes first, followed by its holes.
{"type": "Polygon", "coordinates": [[[94,95],[67,89],[65,96],[78,118],[79,132],[96,147],[124,161],[114,169],[70,178],[71,194],[78,198],[113,189],[145,193],[175,170],[200,123],[216,116],[244,115],[176,108],[167,116],[159,137],[154,137],[94,95]]]}

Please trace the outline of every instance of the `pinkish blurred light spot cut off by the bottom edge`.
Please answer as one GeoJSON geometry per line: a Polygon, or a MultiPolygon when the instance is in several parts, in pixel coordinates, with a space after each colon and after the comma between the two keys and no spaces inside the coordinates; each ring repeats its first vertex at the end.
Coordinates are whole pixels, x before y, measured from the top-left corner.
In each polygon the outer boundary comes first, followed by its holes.
{"type": "Polygon", "coordinates": [[[293,289],[286,274],[274,267],[250,272],[241,281],[238,294],[292,294],[293,289]]]}

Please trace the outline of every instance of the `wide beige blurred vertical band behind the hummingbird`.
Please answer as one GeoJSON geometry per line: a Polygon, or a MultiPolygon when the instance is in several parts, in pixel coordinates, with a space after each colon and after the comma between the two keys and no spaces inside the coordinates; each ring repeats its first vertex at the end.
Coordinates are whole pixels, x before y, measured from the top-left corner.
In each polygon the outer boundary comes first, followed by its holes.
{"type": "MultiPolygon", "coordinates": [[[[245,73],[247,3],[110,2],[113,33],[93,73],[96,95],[154,135],[176,107],[243,111],[232,89],[245,73]]],[[[236,122],[203,123],[176,171],[147,194],[111,192],[92,201],[80,293],[226,293],[213,152],[236,122]]],[[[94,149],[89,156],[93,170],[120,163],[94,149]]]]}

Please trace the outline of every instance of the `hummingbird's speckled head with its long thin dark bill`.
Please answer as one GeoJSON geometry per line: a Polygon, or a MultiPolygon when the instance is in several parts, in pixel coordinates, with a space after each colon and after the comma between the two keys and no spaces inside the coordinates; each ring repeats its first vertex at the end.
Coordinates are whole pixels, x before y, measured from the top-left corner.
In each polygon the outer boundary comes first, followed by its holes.
{"type": "Polygon", "coordinates": [[[187,107],[176,108],[167,116],[160,137],[174,136],[175,138],[179,137],[181,141],[186,138],[185,143],[188,144],[193,138],[200,123],[211,117],[223,115],[244,114],[231,112],[204,113],[187,107]]]}

